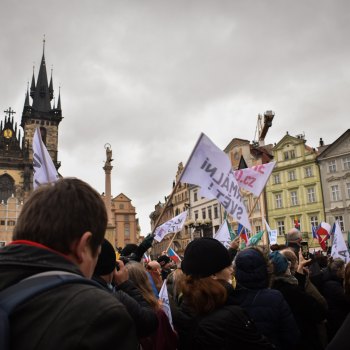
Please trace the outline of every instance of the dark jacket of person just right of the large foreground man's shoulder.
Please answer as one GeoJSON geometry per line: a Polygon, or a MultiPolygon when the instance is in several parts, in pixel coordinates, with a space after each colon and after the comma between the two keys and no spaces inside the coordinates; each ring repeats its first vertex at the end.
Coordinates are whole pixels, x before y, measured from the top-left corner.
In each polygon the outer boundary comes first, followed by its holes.
{"type": "Polygon", "coordinates": [[[93,276],[93,280],[101,284],[109,292],[113,293],[126,307],[126,310],[135,323],[136,333],[139,338],[147,337],[157,330],[157,314],[143,298],[142,294],[132,281],[125,281],[119,284],[117,289],[110,290],[104,279],[98,276],[93,276]]]}

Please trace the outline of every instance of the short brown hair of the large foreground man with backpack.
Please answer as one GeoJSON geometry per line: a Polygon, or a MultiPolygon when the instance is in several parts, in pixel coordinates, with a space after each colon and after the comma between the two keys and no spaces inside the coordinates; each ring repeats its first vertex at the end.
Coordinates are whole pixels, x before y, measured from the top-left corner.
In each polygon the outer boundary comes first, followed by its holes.
{"type": "Polygon", "coordinates": [[[14,240],[41,243],[69,255],[86,232],[97,256],[107,227],[104,202],[86,182],[63,178],[35,190],[23,205],[14,240]]]}

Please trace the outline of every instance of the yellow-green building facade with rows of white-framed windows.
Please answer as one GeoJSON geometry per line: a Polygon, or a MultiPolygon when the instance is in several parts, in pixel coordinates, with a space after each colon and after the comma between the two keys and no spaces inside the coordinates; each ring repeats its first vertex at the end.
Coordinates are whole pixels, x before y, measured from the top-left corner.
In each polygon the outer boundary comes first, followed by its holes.
{"type": "Polygon", "coordinates": [[[306,145],[304,135],[288,133],[273,147],[276,166],[266,185],[267,221],[278,230],[278,242],[300,223],[304,239],[313,245],[312,226],[325,221],[317,151],[306,145]]]}

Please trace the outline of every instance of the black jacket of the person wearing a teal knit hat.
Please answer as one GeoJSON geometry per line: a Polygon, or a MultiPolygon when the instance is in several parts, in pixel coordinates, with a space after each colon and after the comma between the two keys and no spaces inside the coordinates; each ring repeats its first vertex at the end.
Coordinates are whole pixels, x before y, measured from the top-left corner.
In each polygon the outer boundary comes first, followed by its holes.
{"type": "Polygon", "coordinates": [[[324,306],[303,291],[298,286],[298,280],[293,276],[276,277],[272,288],[283,294],[301,331],[298,349],[322,349],[317,325],[326,318],[324,306]]]}

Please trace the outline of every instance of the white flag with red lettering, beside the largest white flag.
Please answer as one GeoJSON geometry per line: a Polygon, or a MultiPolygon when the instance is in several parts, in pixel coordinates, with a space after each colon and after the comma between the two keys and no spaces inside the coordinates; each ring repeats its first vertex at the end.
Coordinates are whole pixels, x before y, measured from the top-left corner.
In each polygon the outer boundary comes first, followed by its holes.
{"type": "Polygon", "coordinates": [[[235,170],[235,178],[240,187],[259,197],[275,165],[276,162],[270,162],[235,170]]]}

